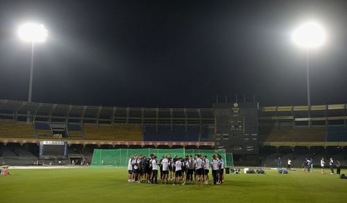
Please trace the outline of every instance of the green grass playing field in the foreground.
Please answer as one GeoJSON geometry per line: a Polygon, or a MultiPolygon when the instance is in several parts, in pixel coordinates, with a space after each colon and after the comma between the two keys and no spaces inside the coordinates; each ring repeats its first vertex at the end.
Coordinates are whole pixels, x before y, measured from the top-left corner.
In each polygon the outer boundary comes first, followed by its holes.
{"type": "MultiPolygon", "coordinates": [[[[0,202],[344,202],[347,179],[302,170],[225,175],[222,185],[137,184],[126,169],[16,169],[0,177],[0,202]]],[[[328,172],[328,170],[327,170],[328,172]]],[[[342,173],[347,173],[344,169],[342,173]]],[[[210,177],[211,179],[211,177],[210,177]]]]}

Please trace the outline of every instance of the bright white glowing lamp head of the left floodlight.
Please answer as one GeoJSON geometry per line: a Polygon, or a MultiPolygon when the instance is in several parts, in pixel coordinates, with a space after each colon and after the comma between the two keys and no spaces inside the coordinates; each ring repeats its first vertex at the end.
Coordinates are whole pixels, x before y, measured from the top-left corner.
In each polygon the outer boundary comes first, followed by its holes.
{"type": "Polygon", "coordinates": [[[20,39],[26,42],[44,42],[47,34],[47,30],[42,24],[26,23],[18,29],[20,39]]]}

